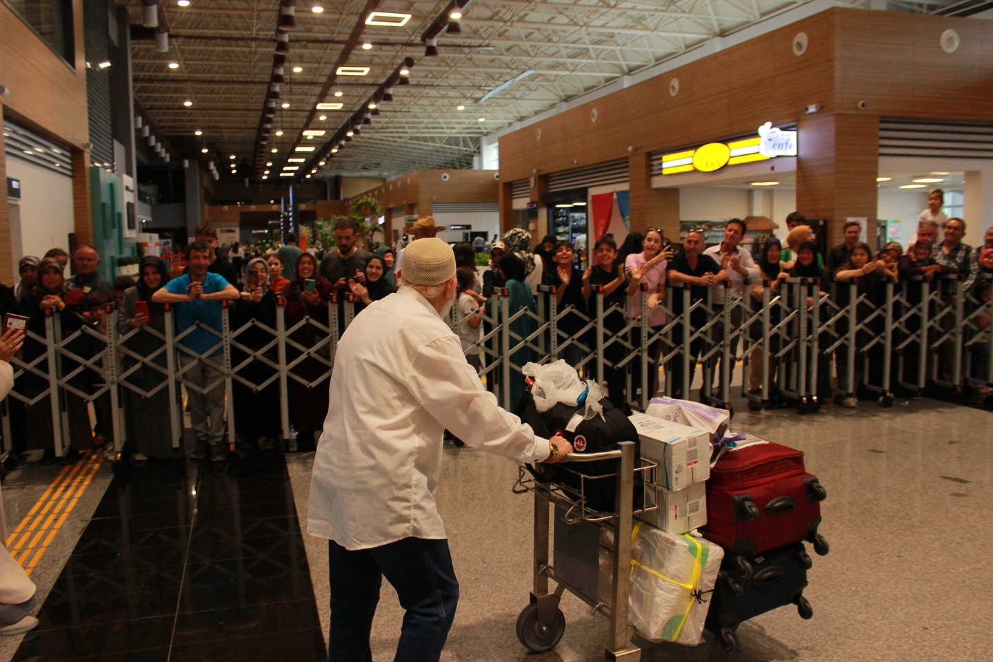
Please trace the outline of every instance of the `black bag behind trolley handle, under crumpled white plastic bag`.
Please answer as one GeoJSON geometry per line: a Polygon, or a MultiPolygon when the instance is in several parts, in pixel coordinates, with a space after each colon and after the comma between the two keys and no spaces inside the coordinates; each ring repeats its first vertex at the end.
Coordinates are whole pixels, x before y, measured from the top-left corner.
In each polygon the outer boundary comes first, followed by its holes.
{"type": "MultiPolygon", "coordinates": [[[[599,415],[589,420],[578,420],[582,416],[585,405],[569,405],[559,403],[546,412],[538,413],[530,392],[517,403],[514,413],[520,420],[531,426],[534,434],[539,437],[551,438],[562,431],[562,436],[572,444],[573,452],[578,454],[603,453],[616,451],[620,442],[635,443],[635,458],[641,457],[641,445],[638,430],[624,412],[616,408],[611,401],[603,398],[600,403],[604,406],[604,416],[599,415]],[[578,420],[578,423],[577,423],[578,420]]],[[[603,478],[581,480],[575,472],[587,476],[608,476],[616,474],[617,460],[598,460],[589,463],[555,463],[537,464],[531,466],[532,473],[539,480],[557,482],[575,491],[581,488],[586,497],[586,507],[601,512],[615,512],[617,480],[613,475],[603,478]],[[564,468],[568,467],[568,468],[564,468]]],[[[635,503],[636,509],[644,501],[642,472],[635,473],[635,503]]]]}

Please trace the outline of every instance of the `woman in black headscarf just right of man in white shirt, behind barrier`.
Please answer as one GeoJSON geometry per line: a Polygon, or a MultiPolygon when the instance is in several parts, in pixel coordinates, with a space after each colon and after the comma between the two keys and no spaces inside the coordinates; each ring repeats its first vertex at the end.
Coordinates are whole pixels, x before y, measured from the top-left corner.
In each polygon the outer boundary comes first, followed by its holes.
{"type": "MultiPolygon", "coordinates": [[[[766,243],[762,248],[762,255],[759,256],[759,278],[762,279],[762,283],[757,283],[749,286],[749,293],[751,296],[751,308],[752,313],[755,315],[760,312],[763,307],[763,300],[766,289],[769,289],[770,298],[776,297],[780,294],[780,283],[783,278],[786,277],[787,272],[782,268],[782,263],[780,260],[782,252],[782,244],[777,237],[770,237],[766,239],[766,243]]],[[[770,327],[775,328],[780,324],[780,307],[772,306],[769,311],[769,322],[770,327]]],[[[760,343],[762,338],[766,335],[769,330],[764,329],[761,322],[754,323],[749,329],[749,337],[752,338],[753,346],[752,353],[749,354],[749,366],[748,366],[748,392],[750,394],[759,394],[762,391],[762,361],[765,356],[763,351],[763,345],[760,343]]],[[[779,388],[776,386],[776,367],[779,361],[776,358],[776,354],[780,350],[780,338],[776,334],[770,336],[770,356],[769,360],[769,390],[770,400],[774,400],[774,395],[779,388]]],[[[751,411],[757,411],[763,408],[763,404],[760,404],[754,400],[749,400],[749,409],[751,411]]]]}

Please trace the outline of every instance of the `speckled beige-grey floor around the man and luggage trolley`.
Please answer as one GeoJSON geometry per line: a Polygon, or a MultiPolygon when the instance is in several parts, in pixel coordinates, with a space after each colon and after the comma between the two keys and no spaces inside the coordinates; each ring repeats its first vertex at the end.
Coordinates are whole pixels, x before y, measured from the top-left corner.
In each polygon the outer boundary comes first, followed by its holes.
{"type": "MultiPolygon", "coordinates": [[[[892,409],[829,405],[816,415],[749,413],[733,428],[802,450],[828,490],[821,533],[831,544],[812,554],[804,595],[814,617],[781,607],[744,623],[738,650],[707,635],[696,647],[646,644],[642,660],[880,662],[979,661],[993,656],[993,414],[922,399],[892,409]]],[[[290,473],[306,516],[310,458],[290,473]]],[[[529,654],[514,623],[530,590],[529,495],[510,492],[516,467],[449,447],[439,502],[448,526],[462,598],[442,660],[579,662],[604,659],[608,621],[575,597],[563,599],[558,647],[529,654]]],[[[327,623],[327,553],[309,539],[315,592],[327,623]]],[[[373,655],[392,658],[402,612],[384,587],[373,655]]]]}

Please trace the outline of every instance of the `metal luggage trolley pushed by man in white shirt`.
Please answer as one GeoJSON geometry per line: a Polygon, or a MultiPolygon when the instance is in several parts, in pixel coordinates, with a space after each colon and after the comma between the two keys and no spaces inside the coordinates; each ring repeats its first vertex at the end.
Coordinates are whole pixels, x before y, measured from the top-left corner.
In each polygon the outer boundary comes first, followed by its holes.
{"type": "MultiPolygon", "coordinates": [[[[641,649],[631,642],[631,628],[628,624],[628,582],[626,578],[631,568],[632,528],[636,513],[654,510],[654,497],[646,492],[643,507],[635,509],[634,503],[636,474],[644,472],[645,480],[642,485],[653,482],[654,463],[638,460],[635,457],[635,444],[622,442],[620,450],[606,453],[570,454],[570,462],[585,463],[603,460],[617,460],[618,472],[605,475],[590,476],[566,464],[556,464],[557,467],[579,477],[579,488],[558,482],[543,482],[529,477],[523,467],[514,492],[534,493],[534,588],[530,602],[520,612],[517,618],[517,638],[528,650],[543,653],[552,650],[562,638],[565,631],[565,615],[558,608],[559,601],[566,589],[611,619],[610,645],[604,653],[605,660],[625,660],[638,662],[641,649]],[[636,467],[636,463],[639,465],[636,467]],[[615,504],[622,505],[618,512],[605,513],[592,510],[586,506],[586,491],[588,483],[594,480],[616,477],[615,504]],[[651,497],[651,502],[647,497],[651,497]],[[556,511],[556,545],[555,565],[549,564],[549,508],[555,505],[556,511]],[[561,516],[559,516],[561,514],[561,516]],[[563,530],[573,531],[560,537],[563,530]],[[600,532],[602,529],[613,532],[614,544],[611,553],[612,589],[610,596],[598,596],[599,584],[599,555],[600,532]],[[574,535],[578,534],[578,535],[574,535]],[[564,542],[565,541],[565,542],[564,542]],[[569,541],[585,543],[577,545],[583,549],[571,549],[569,541]],[[584,555],[584,552],[586,554],[584,555]],[[592,558],[591,558],[592,557],[592,558]],[[556,566],[566,572],[556,573],[556,566]],[[577,581],[577,566],[579,575],[588,581],[577,581]],[[567,570],[568,568],[568,570],[567,570]],[[592,573],[592,578],[591,578],[592,573]],[[571,577],[567,577],[571,576],[571,577]],[[557,583],[554,592],[548,591],[548,580],[557,583]]],[[[643,489],[643,487],[642,487],[643,489]]],[[[650,490],[648,490],[650,491],[650,490]]],[[[606,553],[606,548],[605,553],[606,553]]]]}

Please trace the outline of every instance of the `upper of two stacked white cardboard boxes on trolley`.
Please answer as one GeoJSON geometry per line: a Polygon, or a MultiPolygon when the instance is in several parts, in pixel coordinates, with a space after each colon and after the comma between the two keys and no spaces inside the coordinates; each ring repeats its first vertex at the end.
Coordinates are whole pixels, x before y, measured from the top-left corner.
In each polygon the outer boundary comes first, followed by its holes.
{"type": "Polygon", "coordinates": [[[710,433],[647,414],[629,419],[638,430],[641,457],[658,464],[658,485],[679,490],[710,477],[710,433]]]}

